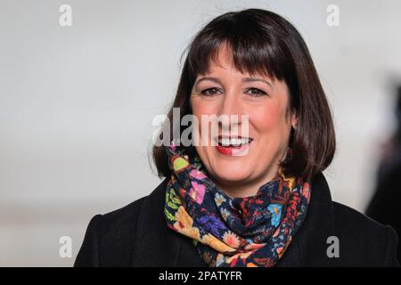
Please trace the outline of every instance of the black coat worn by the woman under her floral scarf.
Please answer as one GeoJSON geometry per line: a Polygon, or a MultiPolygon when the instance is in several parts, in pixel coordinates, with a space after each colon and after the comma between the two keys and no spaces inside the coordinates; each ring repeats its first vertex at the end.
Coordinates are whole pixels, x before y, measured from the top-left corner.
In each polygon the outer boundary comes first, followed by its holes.
{"type": "MultiPolygon", "coordinates": [[[[90,221],[75,266],[206,266],[192,240],[170,230],[165,179],[149,196],[90,221]]],[[[394,230],[331,201],[322,173],[311,183],[307,216],[277,266],[398,266],[394,230]],[[330,236],[340,257],[328,257],[330,236]]]]}

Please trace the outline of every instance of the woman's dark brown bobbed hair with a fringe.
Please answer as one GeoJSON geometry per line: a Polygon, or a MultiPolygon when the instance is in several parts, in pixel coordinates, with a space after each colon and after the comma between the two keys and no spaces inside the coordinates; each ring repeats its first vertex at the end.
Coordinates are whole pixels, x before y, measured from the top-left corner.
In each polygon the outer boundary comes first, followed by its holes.
{"type": "MultiPolygon", "coordinates": [[[[281,163],[284,174],[310,179],[328,167],[336,142],[323,87],[299,32],[274,12],[260,9],[226,12],[193,37],[187,47],[176,98],[168,111],[171,124],[173,108],[180,108],[180,118],[192,113],[192,85],[198,75],[208,72],[209,62],[216,61],[222,44],[229,47],[239,71],[268,75],[283,80],[289,87],[289,107],[296,111],[298,124],[291,128],[291,151],[281,163]]],[[[151,151],[158,175],[171,175],[164,147],[152,145],[151,151]]]]}

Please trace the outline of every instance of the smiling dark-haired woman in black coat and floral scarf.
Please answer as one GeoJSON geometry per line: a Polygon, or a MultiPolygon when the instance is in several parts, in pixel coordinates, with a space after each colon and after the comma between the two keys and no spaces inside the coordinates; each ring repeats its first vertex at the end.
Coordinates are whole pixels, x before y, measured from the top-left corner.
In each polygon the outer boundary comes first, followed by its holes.
{"type": "Polygon", "coordinates": [[[392,228],[331,201],[322,174],[335,151],[331,112],[287,20],[249,9],[209,22],[189,46],[160,138],[175,136],[173,108],[199,118],[194,143],[153,146],[166,178],[94,216],[75,265],[398,265],[392,228]],[[201,120],[213,115],[247,119],[218,121],[213,133],[201,120]]]}

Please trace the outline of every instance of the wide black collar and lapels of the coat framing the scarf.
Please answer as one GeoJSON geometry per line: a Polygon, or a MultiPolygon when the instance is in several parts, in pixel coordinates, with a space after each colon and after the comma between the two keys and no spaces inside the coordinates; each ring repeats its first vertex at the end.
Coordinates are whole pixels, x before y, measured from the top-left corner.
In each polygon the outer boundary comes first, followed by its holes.
{"type": "MultiPolygon", "coordinates": [[[[192,240],[171,231],[164,208],[168,178],[144,199],[136,224],[134,266],[206,266],[192,240]]],[[[329,186],[317,173],[311,183],[307,216],[299,232],[276,266],[331,265],[326,240],[335,235],[334,211],[329,186]]],[[[336,259],[336,258],[334,258],[336,259]]]]}

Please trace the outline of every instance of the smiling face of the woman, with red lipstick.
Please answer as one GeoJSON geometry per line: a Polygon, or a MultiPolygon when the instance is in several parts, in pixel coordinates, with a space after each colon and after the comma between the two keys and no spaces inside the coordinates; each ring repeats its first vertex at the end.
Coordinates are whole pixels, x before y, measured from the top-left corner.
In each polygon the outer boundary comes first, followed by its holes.
{"type": "Polygon", "coordinates": [[[250,77],[235,69],[225,47],[220,48],[217,61],[210,62],[209,73],[198,76],[192,87],[192,113],[200,123],[198,135],[200,139],[207,136],[209,142],[196,145],[196,151],[210,178],[222,190],[233,197],[253,196],[263,183],[274,178],[278,164],[285,158],[291,125],[296,124],[295,114],[286,116],[289,90],[283,81],[250,77]],[[219,124],[217,138],[212,137],[210,127],[207,134],[202,134],[202,115],[237,115],[236,131],[233,125],[230,130],[219,124]],[[241,145],[245,154],[233,155],[238,148],[210,143],[233,143],[224,139],[241,137],[241,115],[249,116],[250,142],[242,137],[241,145]]]}

